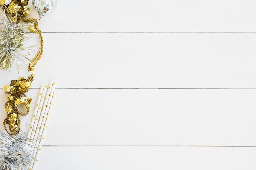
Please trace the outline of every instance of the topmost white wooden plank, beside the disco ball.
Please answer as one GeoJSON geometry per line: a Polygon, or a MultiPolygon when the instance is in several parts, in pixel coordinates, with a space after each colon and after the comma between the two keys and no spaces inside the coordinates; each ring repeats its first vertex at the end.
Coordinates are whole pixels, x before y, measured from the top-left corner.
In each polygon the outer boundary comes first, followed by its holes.
{"type": "MultiPolygon", "coordinates": [[[[30,16],[38,18],[31,2],[30,16]]],[[[60,0],[56,11],[39,21],[39,28],[44,32],[255,32],[255,6],[254,0],[60,0]]]]}

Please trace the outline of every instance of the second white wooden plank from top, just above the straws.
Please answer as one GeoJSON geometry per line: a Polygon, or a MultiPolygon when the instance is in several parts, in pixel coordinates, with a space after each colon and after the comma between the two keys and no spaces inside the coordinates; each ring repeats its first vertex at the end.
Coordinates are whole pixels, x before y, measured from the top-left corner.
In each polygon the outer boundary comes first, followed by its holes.
{"type": "MultiPolygon", "coordinates": [[[[32,87],[52,79],[59,88],[256,87],[254,33],[43,36],[32,87]]],[[[26,70],[0,71],[0,87],[26,70]]]]}

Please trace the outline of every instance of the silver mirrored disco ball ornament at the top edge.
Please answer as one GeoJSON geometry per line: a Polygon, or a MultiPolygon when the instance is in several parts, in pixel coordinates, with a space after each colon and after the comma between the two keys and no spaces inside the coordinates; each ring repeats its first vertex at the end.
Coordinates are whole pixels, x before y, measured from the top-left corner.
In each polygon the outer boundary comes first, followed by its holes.
{"type": "Polygon", "coordinates": [[[57,0],[33,0],[32,2],[34,9],[39,14],[39,20],[42,16],[53,13],[57,7],[57,0]]]}

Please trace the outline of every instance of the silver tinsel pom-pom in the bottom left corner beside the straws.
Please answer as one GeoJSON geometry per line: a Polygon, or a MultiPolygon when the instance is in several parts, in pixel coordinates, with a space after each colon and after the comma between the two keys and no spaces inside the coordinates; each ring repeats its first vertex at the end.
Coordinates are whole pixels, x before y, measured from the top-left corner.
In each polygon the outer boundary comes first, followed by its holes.
{"type": "Polygon", "coordinates": [[[10,136],[0,131],[0,170],[28,169],[32,161],[33,143],[26,139],[26,135],[10,136]]]}

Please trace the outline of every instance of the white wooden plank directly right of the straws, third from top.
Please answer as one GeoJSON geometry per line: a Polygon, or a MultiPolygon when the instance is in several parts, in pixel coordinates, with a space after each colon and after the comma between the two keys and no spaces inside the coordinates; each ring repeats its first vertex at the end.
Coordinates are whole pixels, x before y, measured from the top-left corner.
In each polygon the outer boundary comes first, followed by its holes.
{"type": "Polygon", "coordinates": [[[255,146],[256,143],[252,130],[256,129],[255,89],[57,89],[57,92],[45,145],[255,146]]]}

